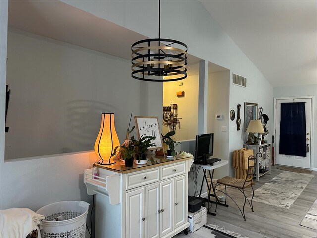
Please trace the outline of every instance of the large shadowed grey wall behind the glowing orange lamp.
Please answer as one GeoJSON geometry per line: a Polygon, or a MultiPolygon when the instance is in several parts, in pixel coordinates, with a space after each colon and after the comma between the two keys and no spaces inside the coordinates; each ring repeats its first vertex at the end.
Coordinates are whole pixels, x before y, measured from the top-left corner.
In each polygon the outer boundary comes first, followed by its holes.
{"type": "Polygon", "coordinates": [[[102,112],[115,113],[123,141],[140,115],[129,60],[15,29],[7,49],[6,159],[92,150],[102,112]]]}

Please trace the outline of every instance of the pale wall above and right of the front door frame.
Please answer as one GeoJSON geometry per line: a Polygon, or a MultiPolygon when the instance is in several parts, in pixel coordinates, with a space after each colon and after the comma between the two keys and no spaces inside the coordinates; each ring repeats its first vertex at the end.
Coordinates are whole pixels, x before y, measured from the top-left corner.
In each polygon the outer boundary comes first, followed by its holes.
{"type": "MultiPolygon", "coordinates": [[[[317,170],[317,84],[289,87],[275,87],[274,98],[314,96],[313,101],[313,133],[311,143],[312,167],[317,170]]],[[[273,119],[273,117],[272,117],[273,119]]],[[[272,122],[273,123],[273,122],[272,122]]]]}

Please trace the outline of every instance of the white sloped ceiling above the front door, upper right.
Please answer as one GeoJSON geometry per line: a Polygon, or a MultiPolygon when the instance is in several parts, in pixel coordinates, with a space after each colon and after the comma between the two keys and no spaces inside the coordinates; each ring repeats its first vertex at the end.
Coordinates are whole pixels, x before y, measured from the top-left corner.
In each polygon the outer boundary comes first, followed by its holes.
{"type": "Polygon", "coordinates": [[[317,84],[316,0],[202,0],[274,86],[317,84]]]}

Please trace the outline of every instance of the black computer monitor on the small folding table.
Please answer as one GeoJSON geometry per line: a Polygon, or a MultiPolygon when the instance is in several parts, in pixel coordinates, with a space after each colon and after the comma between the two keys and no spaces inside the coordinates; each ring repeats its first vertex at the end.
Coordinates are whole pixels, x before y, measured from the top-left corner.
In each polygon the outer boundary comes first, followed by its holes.
{"type": "Polygon", "coordinates": [[[196,135],[194,160],[202,160],[203,155],[207,158],[213,155],[213,133],[196,135]]]}

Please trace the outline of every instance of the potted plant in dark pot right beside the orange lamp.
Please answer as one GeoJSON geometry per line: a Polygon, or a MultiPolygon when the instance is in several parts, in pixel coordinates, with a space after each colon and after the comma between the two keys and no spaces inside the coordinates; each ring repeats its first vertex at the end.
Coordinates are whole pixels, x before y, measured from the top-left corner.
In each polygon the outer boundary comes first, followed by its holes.
{"type": "Polygon", "coordinates": [[[116,146],[114,148],[114,152],[112,153],[112,156],[119,152],[119,158],[124,160],[125,166],[132,166],[133,165],[133,159],[135,155],[135,148],[134,144],[129,139],[129,134],[133,131],[135,126],[132,127],[130,131],[127,129],[127,134],[125,137],[125,141],[121,146],[116,146]]]}

